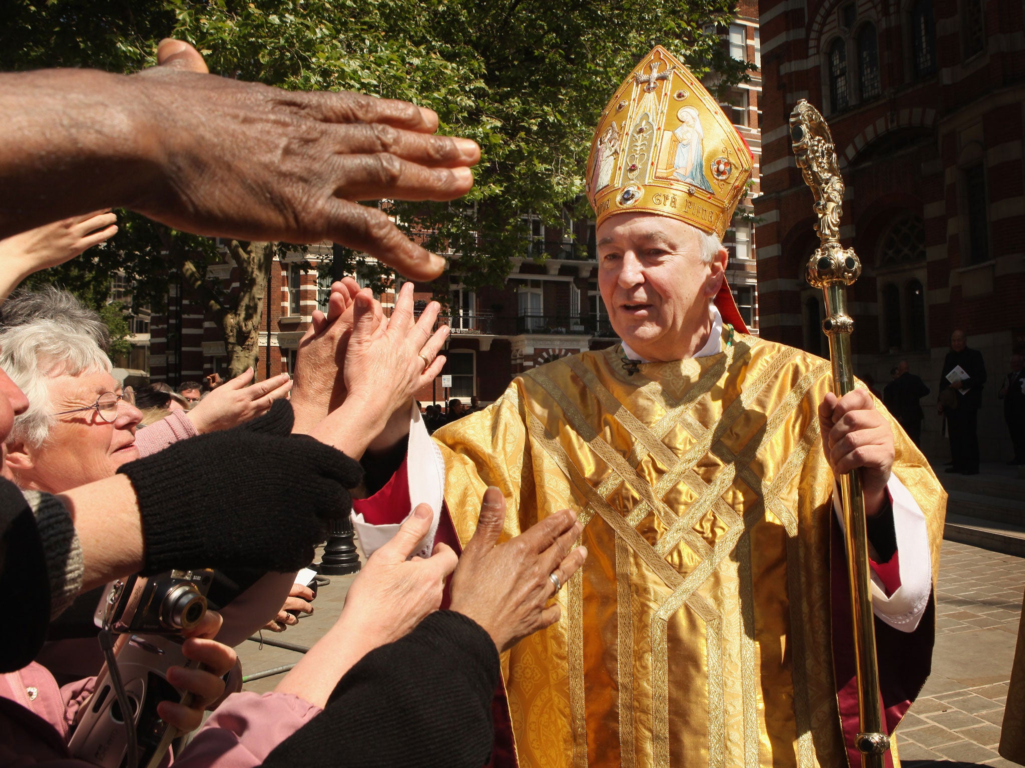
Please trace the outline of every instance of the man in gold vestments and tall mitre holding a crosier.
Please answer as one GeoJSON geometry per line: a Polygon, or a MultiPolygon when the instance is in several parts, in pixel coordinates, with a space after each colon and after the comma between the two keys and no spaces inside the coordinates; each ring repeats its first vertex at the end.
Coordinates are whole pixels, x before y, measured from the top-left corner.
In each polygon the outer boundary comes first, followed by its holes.
{"type": "Polygon", "coordinates": [[[527,371],[406,459],[443,463],[438,541],[465,545],[489,485],[507,537],[584,523],[560,621],[502,656],[492,762],[860,765],[834,472],[865,480],[891,731],[929,672],[945,496],[867,390],[837,402],[828,361],[746,333],[719,238],[751,159],[700,83],[656,48],[596,135],[613,123],[612,182],[588,193],[623,343],[527,371]],[[673,175],[682,106],[711,193],[673,175]]]}

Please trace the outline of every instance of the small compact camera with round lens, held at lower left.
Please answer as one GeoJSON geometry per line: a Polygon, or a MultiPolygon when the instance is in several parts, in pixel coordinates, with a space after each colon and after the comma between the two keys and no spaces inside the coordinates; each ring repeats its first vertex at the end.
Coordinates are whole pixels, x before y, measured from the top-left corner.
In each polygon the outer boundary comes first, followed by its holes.
{"type": "Polygon", "coordinates": [[[118,634],[178,635],[206,613],[213,571],[171,570],[113,582],[96,606],[96,626],[118,634]]]}

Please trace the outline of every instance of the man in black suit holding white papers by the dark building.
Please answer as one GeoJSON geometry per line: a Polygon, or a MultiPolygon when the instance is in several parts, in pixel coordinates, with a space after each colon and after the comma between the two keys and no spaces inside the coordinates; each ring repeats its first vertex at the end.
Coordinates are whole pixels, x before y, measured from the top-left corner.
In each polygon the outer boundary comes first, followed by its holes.
{"type": "Polygon", "coordinates": [[[950,334],[950,351],[943,360],[940,375],[940,412],[947,420],[950,457],[953,466],[947,472],[979,474],[979,409],[982,387],[986,383],[986,365],[982,352],[969,348],[963,331],[950,334]],[[967,379],[951,382],[947,375],[960,366],[967,379]]]}

